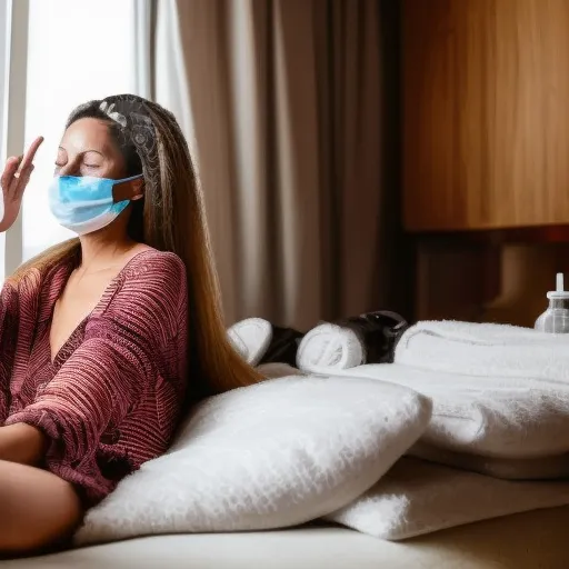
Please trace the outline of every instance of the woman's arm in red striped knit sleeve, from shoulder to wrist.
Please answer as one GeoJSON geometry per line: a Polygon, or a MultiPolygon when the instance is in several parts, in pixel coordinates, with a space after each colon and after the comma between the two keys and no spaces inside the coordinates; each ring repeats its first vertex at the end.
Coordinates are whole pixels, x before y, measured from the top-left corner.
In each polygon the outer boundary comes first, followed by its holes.
{"type": "Polygon", "coordinates": [[[91,462],[97,469],[101,435],[120,425],[141,392],[154,389],[166,336],[182,332],[186,273],[176,259],[168,256],[126,280],[108,311],[88,323],[83,343],[56,377],[0,427],[0,459],[38,463],[46,458],[48,466],[67,468],[91,462]]]}

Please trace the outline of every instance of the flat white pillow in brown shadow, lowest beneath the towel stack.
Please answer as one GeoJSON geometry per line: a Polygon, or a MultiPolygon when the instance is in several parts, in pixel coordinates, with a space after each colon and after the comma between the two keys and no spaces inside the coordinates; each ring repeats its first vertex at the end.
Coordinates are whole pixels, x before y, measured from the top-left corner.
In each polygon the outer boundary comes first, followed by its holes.
{"type": "Polygon", "coordinates": [[[567,503],[569,482],[512,482],[402,458],[375,487],[325,519],[400,540],[567,503]]]}

